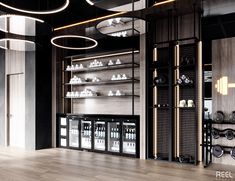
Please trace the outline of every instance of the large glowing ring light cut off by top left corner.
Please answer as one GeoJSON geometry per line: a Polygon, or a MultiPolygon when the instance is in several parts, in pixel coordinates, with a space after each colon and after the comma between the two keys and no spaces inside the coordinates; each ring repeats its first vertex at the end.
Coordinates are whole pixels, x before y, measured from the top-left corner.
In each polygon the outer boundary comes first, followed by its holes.
{"type": "Polygon", "coordinates": [[[54,13],[58,13],[63,11],[64,9],[66,9],[69,5],[69,0],[66,0],[65,3],[56,9],[52,9],[52,10],[47,10],[47,11],[33,11],[33,10],[26,10],[26,9],[19,9],[19,8],[15,8],[13,6],[7,5],[5,3],[0,2],[1,6],[4,6],[5,8],[14,10],[14,11],[18,11],[18,12],[22,12],[22,13],[28,13],[28,14],[54,14],[54,13]]]}

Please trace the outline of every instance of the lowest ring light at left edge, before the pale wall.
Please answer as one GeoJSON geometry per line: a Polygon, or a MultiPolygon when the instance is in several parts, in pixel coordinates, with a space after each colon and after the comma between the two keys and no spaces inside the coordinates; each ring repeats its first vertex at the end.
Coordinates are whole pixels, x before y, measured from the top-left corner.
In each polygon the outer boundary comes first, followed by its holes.
{"type": "Polygon", "coordinates": [[[1,38],[0,48],[4,50],[35,51],[35,43],[29,40],[1,38]]]}

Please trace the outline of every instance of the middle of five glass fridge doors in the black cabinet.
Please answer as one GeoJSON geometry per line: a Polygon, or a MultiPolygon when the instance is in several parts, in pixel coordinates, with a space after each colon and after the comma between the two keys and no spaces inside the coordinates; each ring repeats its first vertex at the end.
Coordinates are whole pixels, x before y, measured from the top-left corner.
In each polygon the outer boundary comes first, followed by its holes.
{"type": "Polygon", "coordinates": [[[94,121],[94,149],[105,151],[106,124],[105,121],[94,121]]]}

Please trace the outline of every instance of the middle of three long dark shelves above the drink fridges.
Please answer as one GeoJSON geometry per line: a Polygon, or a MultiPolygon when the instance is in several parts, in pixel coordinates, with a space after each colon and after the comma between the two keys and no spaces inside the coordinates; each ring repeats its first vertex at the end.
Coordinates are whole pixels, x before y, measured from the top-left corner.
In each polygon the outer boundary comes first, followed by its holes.
{"type": "MultiPolygon", "coordinates": [[[[82,82],[82,83],[66,83],[65,85],[71,86],[86,86],[86,85],[105,85],[105,84],[124,84],[124,83],[132,83],[133,79],[125,79],[125,80],[108,80],[108,81],[100,81],[100,82],[82,82]]],[[[139,79],[134,79],[134,82],[139,82],[139,79]]]]}

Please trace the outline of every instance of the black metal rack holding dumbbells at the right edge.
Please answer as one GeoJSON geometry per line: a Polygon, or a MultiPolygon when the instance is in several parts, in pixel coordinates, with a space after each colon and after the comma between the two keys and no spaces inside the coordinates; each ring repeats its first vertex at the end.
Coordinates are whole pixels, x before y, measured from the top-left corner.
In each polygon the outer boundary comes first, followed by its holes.
{"type": "MultiPolygon", "coordinates": [[[[223,121],[221,123],[215,122],[212,119],[204,119],[203,121],[203,131],[202,131],[202,137],[203,137],[203,143],[202,143],[202,153],[203,153],[203,164],[204,167],[208,167],[212,163],[212,147],[214,146],[212,144],[212,125],[215,124],[224,124],[224,125],[235,125],[235,123],[231,123],[229,121],[223,121]]],[[[222,146],[222,145],[221,145],[222,146]]],[[[230,148],[232,149],[232,146],[222,146],[223,148],[230,148]]],[[[229,152],[225,151],[225,154],[229,154],[229,152]]]]}

